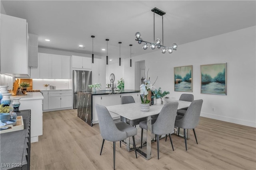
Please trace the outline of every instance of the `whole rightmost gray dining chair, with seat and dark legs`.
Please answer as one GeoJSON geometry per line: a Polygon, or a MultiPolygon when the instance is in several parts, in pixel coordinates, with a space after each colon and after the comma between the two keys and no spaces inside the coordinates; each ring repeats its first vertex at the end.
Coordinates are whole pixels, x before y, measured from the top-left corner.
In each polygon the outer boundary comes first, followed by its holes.
{"type": "MultiPolygon", "coordinates": [[[[199,122],[202,104],[203,104],[202,99],[194,100],[188,107],[184,116],[182,115],[176,116],[175,126],[178,127],[178,134],[180,134],[180,128],[184,129],[184,139],[185,139],[186,150],[187,150],[186,129],[193,129],[194,135],[196,138],[195,128],[199,122]]],[[[196,144],[198,144],[197,139],[196,139],[196,144]]]]}

